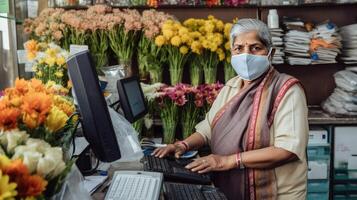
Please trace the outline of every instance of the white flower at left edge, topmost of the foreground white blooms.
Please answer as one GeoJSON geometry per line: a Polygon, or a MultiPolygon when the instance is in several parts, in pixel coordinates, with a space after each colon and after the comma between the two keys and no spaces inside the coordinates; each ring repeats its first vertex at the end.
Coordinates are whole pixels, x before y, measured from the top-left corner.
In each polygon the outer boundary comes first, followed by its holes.
{"type": "Polygon", "coordinates": [[[14,149],[24,143],[28,137],[29,135],[25,131],[19,131],[18,129],[2,131],[0,133],[0,143],[8,153],[14,153],[14,149]]]}

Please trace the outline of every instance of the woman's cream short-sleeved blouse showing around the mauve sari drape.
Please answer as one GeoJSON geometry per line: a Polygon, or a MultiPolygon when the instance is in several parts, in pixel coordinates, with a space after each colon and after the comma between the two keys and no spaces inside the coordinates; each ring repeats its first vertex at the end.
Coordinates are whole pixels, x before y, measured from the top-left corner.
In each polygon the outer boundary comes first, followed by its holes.
{"type": "MultiPolygon", "coordinates": [[[[211,122],[215,114],[241,88],[242,79],[235,77],[222,88],[206,118],[196,126],[206,143],[211,140],[211,122]]],[[[306,146],[308,141],[307,105],[304,91],[292,86],[282,99],[270,128],[271,146],[283,148],[297,155],[299,160],[275,168],[280,200],[305,200],[307,188],[306,146]]]]}

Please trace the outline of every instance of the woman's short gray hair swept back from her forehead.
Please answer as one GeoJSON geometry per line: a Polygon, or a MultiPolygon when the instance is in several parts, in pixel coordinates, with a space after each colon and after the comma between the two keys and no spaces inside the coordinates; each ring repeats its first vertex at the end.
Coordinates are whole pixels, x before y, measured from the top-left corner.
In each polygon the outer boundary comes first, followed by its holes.
{"type": "Polygon", "coordinates": [[[240,19],[233,25],[230,33],[231,48],[235,38],[250,31],[257,31],[261,42],[270,49],[272,47],[271,35],[268,26],[258,19],[240,19]]]}

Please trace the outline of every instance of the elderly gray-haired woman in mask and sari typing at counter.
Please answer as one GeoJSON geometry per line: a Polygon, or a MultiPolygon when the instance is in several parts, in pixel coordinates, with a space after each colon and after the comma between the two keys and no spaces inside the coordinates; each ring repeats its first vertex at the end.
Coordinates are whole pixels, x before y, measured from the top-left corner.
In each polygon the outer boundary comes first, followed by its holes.
{"type": "Polygon", "coordinates": [[[277,72],[268,27],[241,19],[231,29],[232,67],[226,83],[196,133],[154,151],[158,157],[211,146],[212,154],[186,168],[213,172],[213,182],[231,200],[305,200],[307,105],[295,78],[277,72]]]}

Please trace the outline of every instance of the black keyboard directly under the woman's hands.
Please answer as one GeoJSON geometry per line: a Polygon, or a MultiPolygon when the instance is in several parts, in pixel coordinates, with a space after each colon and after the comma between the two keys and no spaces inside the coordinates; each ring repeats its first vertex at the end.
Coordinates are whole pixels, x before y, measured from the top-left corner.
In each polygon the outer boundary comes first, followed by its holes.
{"type": "Polygon", "coordinates": [[[144,156],[144,170],[161,172],[165,181],[174,181],[194,184],[211,184],[211,177],[208,174],[199,174],[185,168],[192,160],[156,158],[154,156],[144,156]]]}

